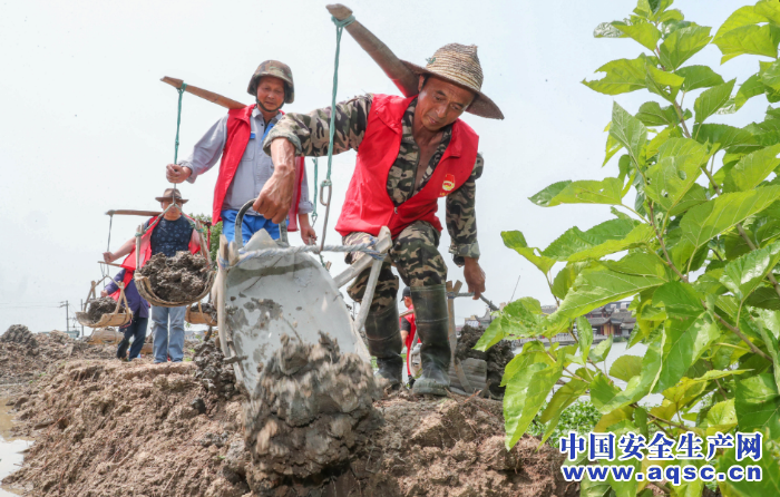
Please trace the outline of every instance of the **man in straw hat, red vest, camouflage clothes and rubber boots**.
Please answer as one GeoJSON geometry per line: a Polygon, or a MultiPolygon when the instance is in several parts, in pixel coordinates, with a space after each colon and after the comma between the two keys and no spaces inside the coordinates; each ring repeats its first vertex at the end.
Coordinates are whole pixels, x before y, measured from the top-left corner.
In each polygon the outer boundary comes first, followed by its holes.
{"type": "MultiPolygon", "coordinates": [[[[417,330],[422,340],[422,376],[415,393],[445,396],[449,387],[450,345],[445,282],[447,266],[438,251],[441,223],[437,201],[447,197],[450,253],[464,266],[469,291],[485,291],[479,267],[475,214],[476,179],[482,173],[477,154],[478,136],[462,120],[464,111],[503,119],[481,91],[482,70],[477,47],[457,43],[436,51],[419,75],[419,95],[401,98],[365,95],[335,108],[333,153],[358,150],[347,201],[335,230],[345,244],[377,236],[381,226],[392,232],[390,260],[411,288],[417,330]]],[[[254,204],[255,211],[279,221],[292,201],[292,164],[295,156],[328,154],[331,108],[310,114],[287,114],[263,144],[275,165],[274,174],[254,204]]],[[[359,254],[348,256],[353,262],[359,254]]],[[[365,322],[369,351],[377,358],[378,374],[389,386],[401,383],[398,277],[386,261],[365,322]]],[[[349,294],[360,301],[369,270],[358,276],[349,294]]],[[[475,296],[476,298],[476,296],[475,296]]]]}

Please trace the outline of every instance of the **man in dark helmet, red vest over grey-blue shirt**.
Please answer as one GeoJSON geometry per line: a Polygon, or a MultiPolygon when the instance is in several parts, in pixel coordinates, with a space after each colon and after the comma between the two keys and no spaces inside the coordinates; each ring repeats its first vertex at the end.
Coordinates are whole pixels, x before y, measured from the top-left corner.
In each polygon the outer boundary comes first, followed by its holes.
{"type": "MultiPolygon", "coordinates": [[[[182,183],[185,179],[195,183],[195,179],[211,169],[222,156],[214,188],[212,224],[223,221],[222,233],[228,242],[235,237],[238,209],[248,201],[257,198],[263,185],[273,174],[271,157],[263,152],[263,138],[284,115],[281,111],[282,106],[285,103],[292,104],[295,98],[292,70],[286,64],[266,60],[250,79],[247,91],[256,99],[256,104],[231,109],[195,144],[192,155],[186,160],[168,164],[165,174],[172,183],[182,183]]],[[[311,244],[316,241],[316,233],[309,223],[309,213],[312,212],[313,205],[309,202],[303,158],[295,163],[295,198],[286,213],[290,220],[287,230],[295,231],[300,224],[301,238],[311,244]]],[[[241,227],[244,243],[260,230],[265,230],[274,240],[280,237],[277,223],[254,209],[246,214],[241,227]]]]}

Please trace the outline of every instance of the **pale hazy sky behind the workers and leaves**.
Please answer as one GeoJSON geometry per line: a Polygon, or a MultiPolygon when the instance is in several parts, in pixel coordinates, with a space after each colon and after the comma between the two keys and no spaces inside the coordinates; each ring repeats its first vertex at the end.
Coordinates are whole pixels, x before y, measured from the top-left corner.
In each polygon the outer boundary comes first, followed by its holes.
{"type": "MultiPolygon", "coordinates": [[[[169,186],[164,172],[174,158],[177,106],[176,90],[162,77],[251,104],[250,77],[261,61],[279,59],[291,66],[295,79],[295,101],[284,110],[330,105],[335,27],[325,2],[0,1],[0,332],[11,324],[65,329],[60,302],[69,301],[72,312],[90,282],[101,276],[97,261],[108,243],[106,211],[159,206],[154,197],[169,186]]],[[[686,19],[714,27],[713,33],[742,4],[747,2],[675,2],[686,19]]],[[[553,303],[544,277],[503,245],[500,233],[519,230],[530,245],[544,248],[571,226],[587,230],[611,217],[608,206],[543,208],[528,197],[558,181],[615,174],[617,157],[601,167],[613,97],[581,81],[599,78],[595,70],[610,60],[642,51],[632,40],[593,38],[599,22],[627,17],[635,2],[511,0],[476,8],[460,0],[349,0],[348,6],[401,59],[425,65],[448,42],[479,47],[482,90],[506,116],[464,115],[479,134],[485,156],[477,183],[485,294],[496,303],[513,295],[553,303]]],[[[754,57],[720,66],[714,46],[689,64],[710,65],[738,84],[758,69],[754,57]]],[[[338,98],[365,92],[398,94],[344,33],[338,98]]],[[[636,91],[614,100],[633,114],[654,97],[636,91]]],[[[713,120],[741,126],[761,120],[766,107],[763,97],[754,98],[739,114],[713,120]]],[[[189,155],[224,113],[185,95],[179,157],[189,155]]],[[[339,241],[333,226],[354,160],[353,152],[333,159],[329,243],[339,241]]],[[[322,178],[325,162],[320,163],[322,178]]],[[[313,166],[308,164],[313,189],[313,166]]],[[[211,213],[216,176],[215,168],[181,187],[191,199],[188,214],[211,213]]],[[[322,218],[315,225],[320,236],[322,218]]],[[[142,221],[115,216],[111,250],[133,237],[142,221]]],[[[301,243],[295,234],[291,240],[301,243]]],[[[445,231],[440,250],[449,279],[462,281],[448,246],[445,231]]],[[[345,267],[334,254],[326,260],[333,262],[333,274],[345,267]]],[[[485,309],[481,302],[456,301],[459,322],[485,309]]]]}

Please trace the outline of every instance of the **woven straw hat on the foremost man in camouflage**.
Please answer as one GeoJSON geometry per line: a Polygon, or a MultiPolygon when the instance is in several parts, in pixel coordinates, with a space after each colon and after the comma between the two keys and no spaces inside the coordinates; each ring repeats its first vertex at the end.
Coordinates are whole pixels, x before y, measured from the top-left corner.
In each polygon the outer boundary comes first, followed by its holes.
{"type": "Polygon", "coordinates": [[[406,60],[401,62],[418,75],[432,75],[476,92],[477,98],[466,109],[467,113],[489,119],[504,119],[501,109],[481,91],[482,67],[479,65],[476,45],[445,45],[427,60],[426,67],[406,60]]]}

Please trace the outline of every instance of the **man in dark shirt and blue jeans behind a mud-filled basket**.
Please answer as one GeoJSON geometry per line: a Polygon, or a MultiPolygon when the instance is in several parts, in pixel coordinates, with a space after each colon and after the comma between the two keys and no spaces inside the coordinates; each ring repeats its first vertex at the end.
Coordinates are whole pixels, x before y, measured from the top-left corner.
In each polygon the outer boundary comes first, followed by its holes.
{"type": "MultiPolygon", "coordinates": [[[[163,207],[165,214],[162,217],[153,217],[144,223],[144,235],[140,242],[140,267],[153,255],[164,253],[166,257],[173,257],[177,252],[196,253],[201,250],[201,237],[193,227],[189,218],[182,215],[182,206],[188,201],[182,198],[178,189],[167,188],[163,196],[155,197],[163,207]],[[175,207],[170,205],[175,203],[175,207]]],[[[135,237],[128,240],[116,252],[106,252],[103,259],[113,262],[127,255],[121,263],[127,271],[136,270],[135,237]]],[[[208,256],[208,254],[206,254],[208,256]]],[[[182,362],[184,360],[184,315],[187,306],[152,308],[152,332],[154,333],[155,364],[168,361],[182,362]]]]}

